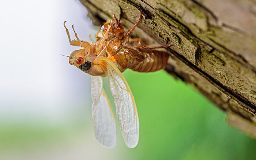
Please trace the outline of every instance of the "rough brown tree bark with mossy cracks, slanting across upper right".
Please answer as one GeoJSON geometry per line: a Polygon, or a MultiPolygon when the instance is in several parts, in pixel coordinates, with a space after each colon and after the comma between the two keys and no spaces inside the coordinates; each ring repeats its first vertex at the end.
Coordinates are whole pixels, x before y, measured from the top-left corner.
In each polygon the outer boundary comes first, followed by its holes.
{"type": "Polygon", "coordinates": [[[227,111],[229,124],[256,137],[255,0],[80,0],[96,25],[113,14],[133,36],[174,44],[166,71],[227,111]]]}

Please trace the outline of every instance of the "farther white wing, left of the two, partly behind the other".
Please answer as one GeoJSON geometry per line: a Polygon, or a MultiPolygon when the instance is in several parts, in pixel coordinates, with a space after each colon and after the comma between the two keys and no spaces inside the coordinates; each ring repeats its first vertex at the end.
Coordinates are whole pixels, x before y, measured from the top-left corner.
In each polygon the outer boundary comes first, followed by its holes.
{"type": "Polygon", "coordinates": [[[92,120],[96,139],[105,147],[116,146],[116,123],[100,76],[91,77],[92,120]]]}

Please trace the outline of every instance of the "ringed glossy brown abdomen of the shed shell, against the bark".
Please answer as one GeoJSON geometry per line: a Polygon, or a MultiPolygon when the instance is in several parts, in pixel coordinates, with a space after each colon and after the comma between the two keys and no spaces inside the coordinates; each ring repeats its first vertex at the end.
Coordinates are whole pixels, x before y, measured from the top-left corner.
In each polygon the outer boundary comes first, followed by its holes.
{"type": "Polygon", "coordinates": [[[112,56],[124,69],[129,68],[137,72],[154,72],[165,68],[169,55],[166,52],[148,49],[132,49],[122,46],[112,56]]]}

